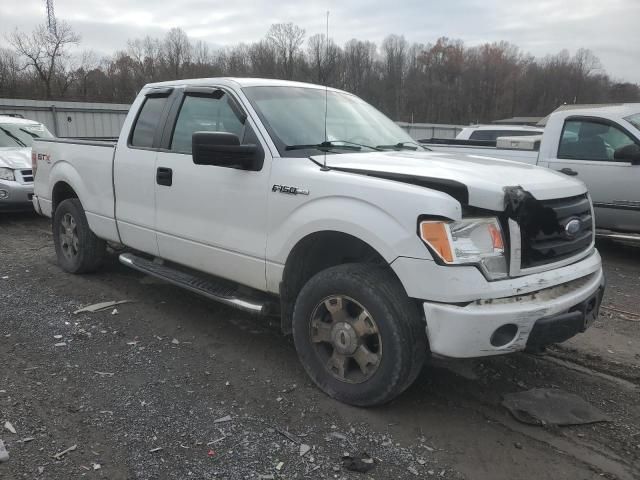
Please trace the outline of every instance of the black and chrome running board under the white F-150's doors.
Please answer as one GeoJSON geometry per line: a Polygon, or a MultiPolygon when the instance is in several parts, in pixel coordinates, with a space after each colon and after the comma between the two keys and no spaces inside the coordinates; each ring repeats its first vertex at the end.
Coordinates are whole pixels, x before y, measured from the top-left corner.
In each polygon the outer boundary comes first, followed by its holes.
{"type": "Polygon", "coordinates": [[[119,259],[120,263],[134,270],[245,312],[269,315],[274,311],[275,304],[267,295],[236,285],[228,280],[158,264],[132,253],[123,253],[119,259]]]}

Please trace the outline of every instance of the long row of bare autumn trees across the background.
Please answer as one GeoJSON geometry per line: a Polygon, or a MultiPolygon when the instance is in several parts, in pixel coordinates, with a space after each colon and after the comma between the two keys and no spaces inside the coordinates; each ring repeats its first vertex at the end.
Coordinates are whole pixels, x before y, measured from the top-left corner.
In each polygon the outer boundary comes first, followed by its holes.
{"type": "Polygon", "coordinates": [[[544,116],[564,103],[638,102],[640,85],[612,79],[587,49],[535,58],[508,42],[467,46],[439,38],[338,45],[292,23],[271,25],[254,43],[212,48],[179,29],[129,40],[104,58],[78,52],[66,22],[14,31],[0,49],[0,97],[130,103],[149,82],[248,76],[341,88],[394,120],[467,124],[544,116]]]}

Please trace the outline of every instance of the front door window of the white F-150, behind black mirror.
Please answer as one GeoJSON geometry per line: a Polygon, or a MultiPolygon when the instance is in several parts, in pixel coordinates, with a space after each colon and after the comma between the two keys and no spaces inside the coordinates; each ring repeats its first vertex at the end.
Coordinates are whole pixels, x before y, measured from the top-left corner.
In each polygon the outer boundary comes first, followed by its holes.
{"type": "Polygon", "coordinates": [[[229,105],[228,95],[214,97],[186,96],[182,102],[171,139],[171,150],[191,153],[194,132],[227,132],[243,140],[244,124],[229,105]]]}

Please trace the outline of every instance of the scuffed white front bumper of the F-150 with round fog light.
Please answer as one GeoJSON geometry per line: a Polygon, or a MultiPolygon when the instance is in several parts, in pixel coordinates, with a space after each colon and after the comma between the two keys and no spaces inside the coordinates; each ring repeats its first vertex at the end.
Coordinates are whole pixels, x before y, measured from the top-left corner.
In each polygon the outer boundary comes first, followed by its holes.
{"type": "MultiPolygon", "coordinates": [[[[406,270],[396,262],[392,266],[403,280],[406,270]]],[[[604,292],[597,250],[565,267],[496,282],[482,282],[472,270],[442,271],[433,262],[423,266],[455,275],[444,284],[429,282],[437,276],[422,277],[429,296],[407,289],[410,296],[426,300],[431,352],[446,357],[500,355],[564,341],[595,320],[604,292]]]]}

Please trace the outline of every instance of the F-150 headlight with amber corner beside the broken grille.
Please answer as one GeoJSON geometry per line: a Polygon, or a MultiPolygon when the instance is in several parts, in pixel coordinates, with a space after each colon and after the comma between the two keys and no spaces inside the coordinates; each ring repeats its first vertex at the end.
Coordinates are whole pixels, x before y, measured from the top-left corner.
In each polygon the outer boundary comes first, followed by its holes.
{"type": "Polygon", "coordinates": [[[420,237],[450,265],[478,265],[491,280],[507,276],[504,237],[495,217],[420,222],[420,237]]]}

